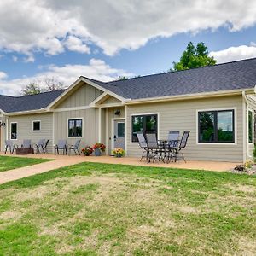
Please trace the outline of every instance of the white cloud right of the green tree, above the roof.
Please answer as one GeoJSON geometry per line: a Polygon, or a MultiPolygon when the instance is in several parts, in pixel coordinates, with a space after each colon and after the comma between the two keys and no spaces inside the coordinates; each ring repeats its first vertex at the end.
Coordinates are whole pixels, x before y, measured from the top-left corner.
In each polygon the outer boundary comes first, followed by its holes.
{"type": "Polygon", "coordinates": [[[256,57],[256,46],[254,43],[251,43],[249,46],[240,45],[219,51],[212,51],[210,55],[212,55],[218,63],[239,61],[256,57]]]}

